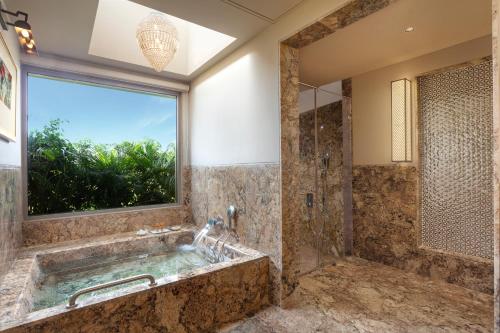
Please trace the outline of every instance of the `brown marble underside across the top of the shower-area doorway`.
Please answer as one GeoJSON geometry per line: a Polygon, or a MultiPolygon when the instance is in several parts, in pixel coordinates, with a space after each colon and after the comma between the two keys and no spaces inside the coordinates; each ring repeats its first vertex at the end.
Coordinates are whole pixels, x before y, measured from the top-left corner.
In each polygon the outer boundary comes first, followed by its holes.
{"type": "Polygon", "coordinates": [[[294,48],[305,47],[335,31],[373,14],[397,0],[353,0],[284,41],[294,48]]]}

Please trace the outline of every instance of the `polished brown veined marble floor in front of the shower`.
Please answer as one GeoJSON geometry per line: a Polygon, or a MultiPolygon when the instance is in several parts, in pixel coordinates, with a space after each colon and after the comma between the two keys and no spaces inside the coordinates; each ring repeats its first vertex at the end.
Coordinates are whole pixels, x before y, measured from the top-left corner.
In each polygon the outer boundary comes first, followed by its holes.
{"type": "Polygon", "coordinates": [[[288,301],[221,332],[493,332],[493,296],[358,258],[303,275],[288,301]]]}

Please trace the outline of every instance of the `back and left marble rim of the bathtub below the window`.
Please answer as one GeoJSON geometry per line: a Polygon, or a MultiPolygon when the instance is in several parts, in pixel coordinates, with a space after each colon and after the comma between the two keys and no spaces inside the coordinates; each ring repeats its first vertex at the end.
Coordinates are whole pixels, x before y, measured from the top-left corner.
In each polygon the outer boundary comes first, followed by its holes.
{"type": "Polygon", "coordinates": [[[184,225],[179,231],[163,235],[137,236],[132,232],[21,248],[0,286],[0,323],[30,311],[40,271],[61,266],[70,269],[82,260],[93,264],[103,257],[173,251],[179,243],[191,243],[193,232],[191,225],[184,225]]]}

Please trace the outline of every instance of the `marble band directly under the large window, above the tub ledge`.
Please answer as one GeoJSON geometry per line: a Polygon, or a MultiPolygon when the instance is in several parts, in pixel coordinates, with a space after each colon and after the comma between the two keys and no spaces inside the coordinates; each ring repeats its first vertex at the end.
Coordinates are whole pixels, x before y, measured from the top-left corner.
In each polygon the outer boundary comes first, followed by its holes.
{"type": "Polygon", "coordinates": [[[137,210],[112,210],[93,214],[30,219],[22,224],[25,246],[137,231],[144,227],[191,222],[191,173],[183,170],[182,200],[178,206],[151,206],[137,210]]]}

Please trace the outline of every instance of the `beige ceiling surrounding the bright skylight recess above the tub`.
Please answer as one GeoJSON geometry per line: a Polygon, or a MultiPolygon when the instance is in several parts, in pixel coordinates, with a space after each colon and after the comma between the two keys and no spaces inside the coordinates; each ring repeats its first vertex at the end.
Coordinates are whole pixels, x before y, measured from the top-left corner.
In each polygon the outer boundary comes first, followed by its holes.
{"type": "MultiPolygon", "coordinates": [[[[113,66],[139,73],[190,81],[211,65],[234,51],[268,27],[275,19],[302,0],[133,0],[133,2],[193,22],[237,40],[189,75],[156,73],[152,68],[89,54],[98,0],[5,0],[9,10],[29,13],[29,22],[41,55],[55,55],[113,66]],[[247,10],[248,9],[248,10],[247,10]],[[257,12],[257,13],[255,13],[257,12]]],[[[117,45],[113,33],[107,35],[110,46],[117,45]]]]}

